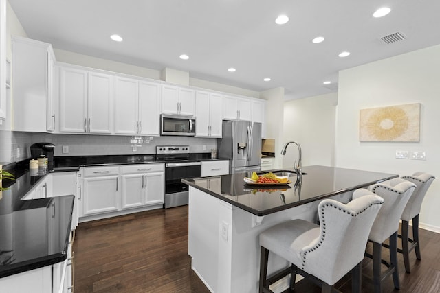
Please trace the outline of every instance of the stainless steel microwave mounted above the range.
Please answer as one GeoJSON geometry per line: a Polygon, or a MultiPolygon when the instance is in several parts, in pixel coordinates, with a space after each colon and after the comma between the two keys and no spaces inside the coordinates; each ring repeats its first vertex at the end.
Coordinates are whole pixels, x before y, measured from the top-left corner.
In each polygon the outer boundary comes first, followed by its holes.
{"type": "Polygon", "coordinates": [[[160,117],[161,135],[195,136],[195,117],[191,115],[162,114],[160,117]]]}

